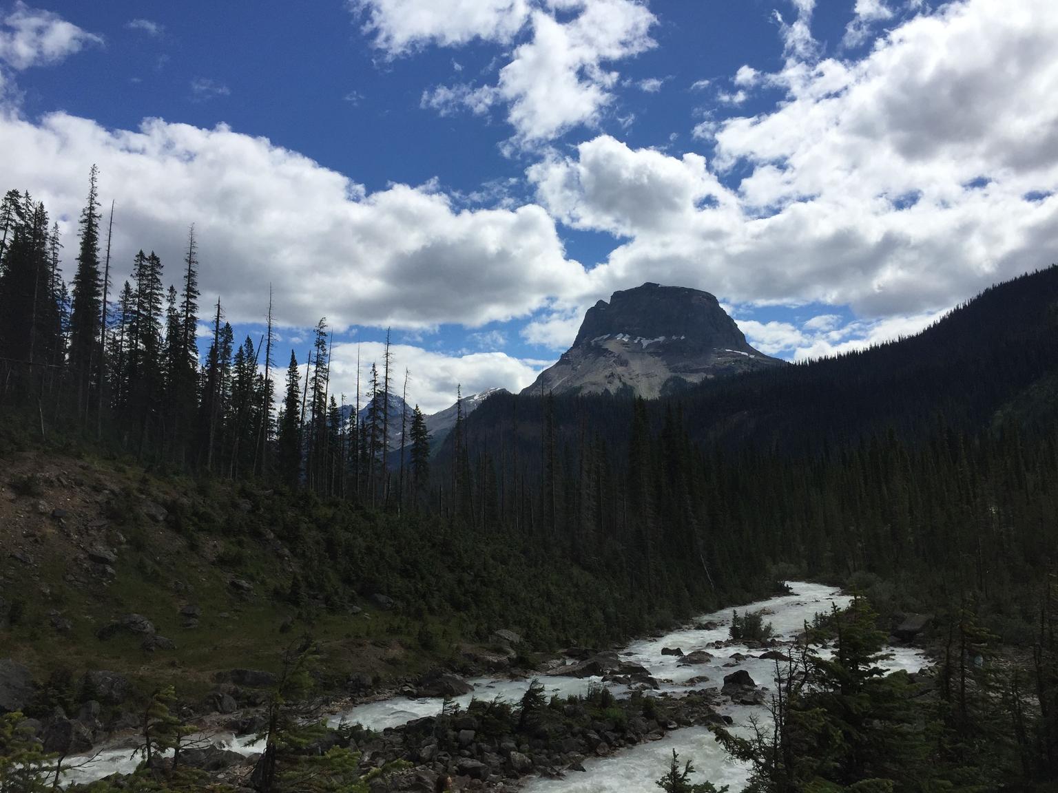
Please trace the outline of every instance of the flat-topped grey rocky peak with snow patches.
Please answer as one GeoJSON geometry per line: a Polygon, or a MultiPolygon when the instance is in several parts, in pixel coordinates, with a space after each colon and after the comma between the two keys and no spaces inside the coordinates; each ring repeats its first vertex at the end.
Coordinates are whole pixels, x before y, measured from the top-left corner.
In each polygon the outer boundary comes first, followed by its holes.
{"type": "Polygon", "coordinates": [[[573,346],[523,393],[631,391],[650,399],[784,363],[750,347],[708,292],[644,283],[588,309],[573,346]]]}

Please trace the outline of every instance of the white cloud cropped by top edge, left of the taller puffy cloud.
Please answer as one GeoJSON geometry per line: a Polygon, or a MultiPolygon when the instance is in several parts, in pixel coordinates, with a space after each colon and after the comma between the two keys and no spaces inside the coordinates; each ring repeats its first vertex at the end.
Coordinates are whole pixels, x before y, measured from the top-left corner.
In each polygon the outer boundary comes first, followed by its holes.
{"type": "Polygon", "coordinates": [[[390,56],[425,44],[507,42],[529,16],[527,0],[349,0],[349,6],[367,17],[364,32],[390,56]]]}

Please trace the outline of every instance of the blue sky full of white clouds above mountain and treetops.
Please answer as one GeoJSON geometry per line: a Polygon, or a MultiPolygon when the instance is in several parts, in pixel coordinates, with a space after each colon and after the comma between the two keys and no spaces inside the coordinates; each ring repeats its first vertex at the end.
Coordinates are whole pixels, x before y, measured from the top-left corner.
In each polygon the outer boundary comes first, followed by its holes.
{"type": "Polygon", "coordinates": [[[299,357],[327,316],[347,391],[386,327],[439,409],[456,383],[527,385],[587,306],[647,280],[805,358],[1058,258],[1050,0],[0,0],[0,20],[2,187],[59,216],[68,259],[96,162],[120,273],[144,247],[175,274],[195,223],[203,303],[256,334],[272,283],[299,357]]]}

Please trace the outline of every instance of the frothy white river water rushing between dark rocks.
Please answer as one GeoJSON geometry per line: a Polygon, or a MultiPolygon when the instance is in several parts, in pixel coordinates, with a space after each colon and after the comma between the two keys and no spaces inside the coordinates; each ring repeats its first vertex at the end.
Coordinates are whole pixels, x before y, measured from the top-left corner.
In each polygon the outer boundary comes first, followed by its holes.
{"type": "MultiPolygon", "coordinates": [[[[841,594],[839,590],[820,584],[791,582],[790,587],[791,594],[743,606],[740,611],[767,609],[770,613],[765,620],[771,623],[777,638],[790,641],[804,629],[805,622],[811,622],[816,613],[828,612],[832,605],[843,608],[851,600],[841,594]]],[[[720,623],[726,622],[730,615],[731,609],[724,609],[712,614],[703,614],[697,622],[720,623]]],[[[774,677],[773,661],[747,658],[736,662],[733,666],[728,665],[732,663],[731,657],[736,652],[744,656],[756,656],[761,653],[761,650],[749,649],[744,645],[736,644],[723,648],[708,647],[713,642],[727,639],[728,627],[726,624],[712,630],[703,630],[692,626],[672,631],[658,639],[643,639],[633,642],[620,651],[620,656],[623,660],[646,667],[660,683],[661,691],[686,693],[688,688],[681,684],[692,677],[703,675],[709,678],[709,682],[705,685],[720,686],[724,683],[724,676],[730,675],[736,668],[748,671],[758,685],[770,688],[773,685],[774,677]],[[708,649],[713,654],[713,660],[706,664],[680,666],[678,657],[661,653],[663,647],[679,647],[685,653],[697,649],[708,649]]],[[[927,663],[922,652],[912,648],[894,647],[890,648],[889,651],[893,653],[893,658],[886,663],[886,666],[891,670],[915,671],[927,663]]],[[[561,675],[542,677],[541,681],[549,694],[560,695],[583,694],[592,683],[601,683],[599,678],[580,679],[561,675]]],[[[476,678],[470,682],[474,685],[473,694],[468,694],[456,700],[462,706],[469,704],[470,700],[475,697],[490,700],[499,697],[516,702],[529,685],[528,681],[524,680],[512,681],[495,678],[476,678]]],[[[618,696],[627,694],[623,686],[612,685],[610,687],[618,696]]],[[[437,715],[440,707],[441,700],[439,699],[395,697],[357,705],[331,717],[330,723],[335,725],[345,720],[350,723],[359,722],[364,726],[381,731],[385,727],[399,726],[422,716],[437,715]]],[[[745,729],[750,716],[756,715],[762,718],[766,716],[763,707],[753,705],[728,704],[722,707],[720,712],[732,717],[734,720],[733,730],[736,732],[740,729],[745,729]]],[[[253,754],[260,751],[259,745],[250,745],[250,737],[217,734],[213,738],[217,745],[241,754],[253,754]]],[[[659,741],[642,743],[609,757],[585,760],[584,773],[570,772],[564,779],[534,779],[525,786],[525,791],[527,793],[610,793],[612,791],[613,793],[628,793],[628,791],[643,791],[645,793],[658,790],[654,786],[654,780],[664,773],[673,749],[679,753],[681,762],[691,760],[694,763],[697,773],[694,775],[693,781],[708,780],[717,787],[730,785],[732,793],[742,790],[745,786],[748,776],[747,769],[735,762],[720,748],[708,730],[688,727],[669,733],[659,741]]],[[[70,758],[71,762],[77,760],[78,758],[70,758]]],[[[90,781],[114,772],[129,773],[135,769],[138,762],[139,758],[131,757],[128,749],[106,749],[90,766],[72,771],[66,776],[65,782],[90,781]]]]}

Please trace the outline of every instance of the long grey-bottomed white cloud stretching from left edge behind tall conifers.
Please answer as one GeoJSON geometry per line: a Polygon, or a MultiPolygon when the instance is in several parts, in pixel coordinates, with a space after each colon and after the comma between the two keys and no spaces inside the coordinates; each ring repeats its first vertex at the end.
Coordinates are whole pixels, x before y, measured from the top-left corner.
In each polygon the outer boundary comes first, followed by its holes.
{"type": "MultiPolygon", "coordinates": [[[[233,322],[262,318],[270,282],[280,324],[323,315],[339,328],[480,326],[583,289],[583,268],[536,205],[458,210],[428,185],[368,193],[225,126],[150,119],[139,131],[107,130],[65,113],[31,122],[0,111],[0,172],[53,217],[78,217],[92,163],[104,203],[117,204],[115,280],[140,247],[156,250],[175,280],[195,222],[202,302],[220,294],[233,322]]],[[[69,259],[74,222],[62,230],[69,259]]]]}

